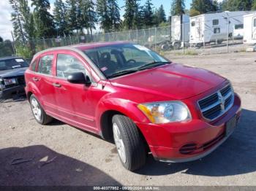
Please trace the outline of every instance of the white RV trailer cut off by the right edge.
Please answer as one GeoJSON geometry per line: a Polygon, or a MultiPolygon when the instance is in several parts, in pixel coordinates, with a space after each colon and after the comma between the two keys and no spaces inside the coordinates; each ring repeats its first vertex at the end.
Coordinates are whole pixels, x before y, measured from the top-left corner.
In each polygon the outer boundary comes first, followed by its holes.
{"type": "Polygon", "coordinates": [[[244,15],[244,44],[256,44],[256,13],[244,15]]]}

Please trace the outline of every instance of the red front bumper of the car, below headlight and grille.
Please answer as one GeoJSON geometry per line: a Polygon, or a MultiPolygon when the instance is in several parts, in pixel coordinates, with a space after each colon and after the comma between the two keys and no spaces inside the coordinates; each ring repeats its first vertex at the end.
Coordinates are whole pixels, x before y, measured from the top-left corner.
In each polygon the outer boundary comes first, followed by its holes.
{"type": "MultiPolygon", "coordinates": [[[[156,160],[182,163],[197,160],[213,152],[227,138],[226,122],[241,116],[241,100],[235,95],[232,108],[214,122],[193,119],[189,122],[175,122],[163,125],[140,123],[137,125],[148,142],[151,153],[156,160]],[[184,145],[195,144],[192,152],[184,154],[184,145]]],[[[232,132],[233,133],[233,132],[232,132]]]]}

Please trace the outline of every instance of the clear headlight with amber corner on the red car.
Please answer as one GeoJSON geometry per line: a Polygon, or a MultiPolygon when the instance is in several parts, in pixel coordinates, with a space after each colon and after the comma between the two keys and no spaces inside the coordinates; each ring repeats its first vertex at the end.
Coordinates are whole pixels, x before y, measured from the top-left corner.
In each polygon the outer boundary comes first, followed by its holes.
{"type": "Polygon", "coordinates": [[[152,123],[182,122],[191,119],[189,109],[181,101],[139,104],[138,108],[152,123]]]}

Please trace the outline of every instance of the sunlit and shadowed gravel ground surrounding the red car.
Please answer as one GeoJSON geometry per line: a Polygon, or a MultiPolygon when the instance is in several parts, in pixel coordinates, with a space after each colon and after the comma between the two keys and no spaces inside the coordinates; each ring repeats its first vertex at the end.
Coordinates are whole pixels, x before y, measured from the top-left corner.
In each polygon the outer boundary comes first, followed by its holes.
{"type": "Polygon", "coordinates": [[[241,122],[211,155],[177,164],[148,157],[132,173],[121,166],[113,144],[59,121],[39,125],[27,101],[7,102],[0,104],[0,185],[256,186],[256,54],[170,59],[222,74],[241,95],[241,122]]]}

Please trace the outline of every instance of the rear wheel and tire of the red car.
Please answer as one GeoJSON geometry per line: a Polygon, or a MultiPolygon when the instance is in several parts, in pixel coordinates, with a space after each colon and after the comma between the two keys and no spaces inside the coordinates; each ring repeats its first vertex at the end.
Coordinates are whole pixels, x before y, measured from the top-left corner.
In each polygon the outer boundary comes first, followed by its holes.
{"type": "Polygon", "coordinates": [[[34,96],[34,94],[30,96],[29,103],[31,106],[32,114],[34,115],[34,119],[39,124],[46,125],[53,120],[53,117],[50,117],[48,114],[45,113],[45,110],[42,109],[42,106],[39,104],[39,101],[34,96]],[[38,113],[36,113],[36,110],[38,113]]]}

